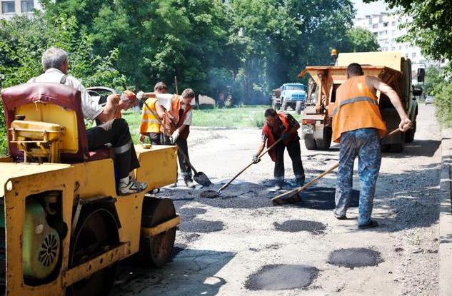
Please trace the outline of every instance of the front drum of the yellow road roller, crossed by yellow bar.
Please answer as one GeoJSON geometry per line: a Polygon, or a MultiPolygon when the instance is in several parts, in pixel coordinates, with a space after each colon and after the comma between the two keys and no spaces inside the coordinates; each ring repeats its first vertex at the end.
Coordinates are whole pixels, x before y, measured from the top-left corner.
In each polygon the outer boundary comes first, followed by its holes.
{"type": "MultiPolygon", "coordinates": [[[[169,198],[144,198],[141,227],[154,227],[176,217],[173,201],[169,198]]],[[[141,264],[162,267],[171,258],[176,228],[171,228],[152,238],[140,238],[136,260],[141,264]]]]}

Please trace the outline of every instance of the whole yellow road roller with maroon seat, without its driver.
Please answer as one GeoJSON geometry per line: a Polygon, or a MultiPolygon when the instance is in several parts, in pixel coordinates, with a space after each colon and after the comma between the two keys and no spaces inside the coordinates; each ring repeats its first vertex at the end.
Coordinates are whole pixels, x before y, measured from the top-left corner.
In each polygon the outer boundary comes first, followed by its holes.
{"type": "MultiPolygon", "coordinates": [[[[161,267],[180,218],[169,198],[119,196],[111,148],[89,151],[79,91],[26,83],[1,91],[0,284],[6,295],[107,295],[120,260],[161,267]]],[[[176,147],[136,147],[147,192],[176,180],[176,147]]]]}

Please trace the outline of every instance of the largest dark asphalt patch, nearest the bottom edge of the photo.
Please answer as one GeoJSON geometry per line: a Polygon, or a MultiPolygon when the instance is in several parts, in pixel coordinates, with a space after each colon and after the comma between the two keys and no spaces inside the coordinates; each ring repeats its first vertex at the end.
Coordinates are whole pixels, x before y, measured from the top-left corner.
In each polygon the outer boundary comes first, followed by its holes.
{"type": "Polygon", "coordinates": [[[318,276],[316,267],[306,265],[265,265],[248,276],[248,290],[291,290],[306,288],[318,276]]]}

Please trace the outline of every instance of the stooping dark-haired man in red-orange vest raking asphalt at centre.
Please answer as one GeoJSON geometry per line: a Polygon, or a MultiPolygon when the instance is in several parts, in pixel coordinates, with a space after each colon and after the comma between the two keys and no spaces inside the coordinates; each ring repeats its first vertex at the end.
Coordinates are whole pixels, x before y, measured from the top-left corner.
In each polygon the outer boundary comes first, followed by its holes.
{"type": "Polygon", "coordinates": [[[297,131],[300,128],[300,123],[289,113],[283,111],[276,113],[273,108],[268,108],[264,116],[265,124],[262,128],[262,141],[256,154],[253,155],[253,162],[258,162],[258,155],[262,153],[265,144],[270,147],[275,141],[282,138],[275,148],[268,151],[271,160],[275,162],[274,178],[276,185],[278,188],[282,188],[284,184],[284,150],[286,147],[292,160],[296,182],[298,185],[303,185],[305,177],[303,163],[301,163],[300,138],[297,131]]]}

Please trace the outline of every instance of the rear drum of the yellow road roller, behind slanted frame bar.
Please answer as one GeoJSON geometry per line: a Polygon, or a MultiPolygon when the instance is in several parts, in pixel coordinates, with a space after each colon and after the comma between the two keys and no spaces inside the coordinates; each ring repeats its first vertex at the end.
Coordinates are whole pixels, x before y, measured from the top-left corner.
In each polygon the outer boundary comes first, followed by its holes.
{"type": "MultiPolygon", "coordinates": [[[[77,223],[69,250],[69,267],[75,267],[119,244],[118,225],[106,208],[84,210],[77,223]]],[[[84,280],[67,287],[66,295],[108,295],[116,276],[117,264],[95,272],[84,280]]]]}

